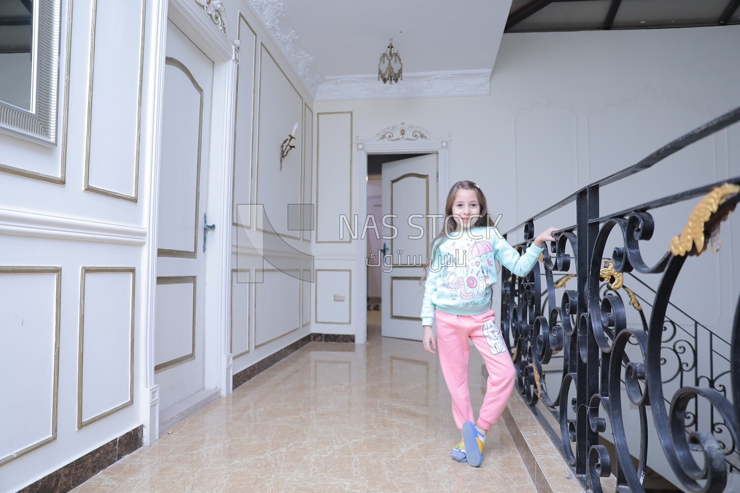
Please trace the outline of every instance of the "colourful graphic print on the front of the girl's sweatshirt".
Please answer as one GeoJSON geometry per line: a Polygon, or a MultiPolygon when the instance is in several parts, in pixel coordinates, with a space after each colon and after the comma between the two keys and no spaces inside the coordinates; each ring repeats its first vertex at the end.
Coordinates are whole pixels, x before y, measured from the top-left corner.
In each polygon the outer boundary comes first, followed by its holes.
{"type": "Polygon", "coordinates": [[[462,306],[485,305],[488,269],[494,268],[494,247],[490,242],[463,239],[450,242],[440,275],[451,291],[452,300],[460,297],[462,306]]]}

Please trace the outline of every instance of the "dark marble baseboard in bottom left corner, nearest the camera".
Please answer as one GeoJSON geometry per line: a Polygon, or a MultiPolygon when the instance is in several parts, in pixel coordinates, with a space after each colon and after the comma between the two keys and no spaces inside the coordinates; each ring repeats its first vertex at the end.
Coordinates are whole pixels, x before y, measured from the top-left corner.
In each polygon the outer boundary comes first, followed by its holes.
{"type": "Polygon", "coordinates": [[[141,447],[144,425],[124,433],[26,486],[19,493],[67,493],[141,447]]]}

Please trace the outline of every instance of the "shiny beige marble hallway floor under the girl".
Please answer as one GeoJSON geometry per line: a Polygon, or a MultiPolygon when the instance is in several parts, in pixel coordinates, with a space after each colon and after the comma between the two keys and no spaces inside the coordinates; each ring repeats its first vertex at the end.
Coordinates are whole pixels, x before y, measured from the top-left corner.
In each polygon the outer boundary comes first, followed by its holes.
{"type": "Polygon", "coordinates": [[[503,420],[480,468],[451,460],[458,437],[437,357],[372,325],[368,344],[312,342],[73,492],[535,492],[503,420]]]}

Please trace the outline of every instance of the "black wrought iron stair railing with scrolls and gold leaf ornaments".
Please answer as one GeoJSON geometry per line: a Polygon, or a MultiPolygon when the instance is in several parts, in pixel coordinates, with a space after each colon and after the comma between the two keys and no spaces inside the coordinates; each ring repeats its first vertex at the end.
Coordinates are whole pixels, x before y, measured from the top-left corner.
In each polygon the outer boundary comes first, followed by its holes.
{"type": "Polygon", "coordinates": [[[506,234],[522,231],[517,248],[524,248],[534,238],[536,220],[575,202],[576,224],[555,235],[548,245],[552,256],[543,255],[526,277],[502,269],[501,326],[517,367],[519,392],[532,406],[539,401],[554,415],[556,443],[590,491],[602,492],[603,478],[613,475],[617,492],[645,492],[648,454],[651,460],[664,455],[677,486],[692,492],[724,492],[730,472],[740,465],[740,302],[730,342],[671,302],[676,278],[687,261],[693,262],[690,257],[709,245],[717,248],[719,224],[740,201],[740,177],[614,213],[599,210],[604,186],[650,169],[739,120],[740,108],[734,109],[506,234]],[[647,265],[642,247],[653,235],[653,211],[697,197],[702,198],[686,227],[654,265],[647,265]],[[619,244],[608,256],[605,250],[614,241],[619,244]],[[573,280],[562,281],[563,276],[573,280]],[[625,276],[635,286],[625,290],[628,305],[617,293],[625,276]],[[645,282],[650,276],[656,282],[645,282]],[[562,290],[559,299],[556,290],[562,290]],[[639,306],[639,319],[628,314],[629,305],[639,306]],[[562,361],[559,375],[552,371],[559,367],[554,357],[562,361]],[[676,358],[675,368],[670,358],[676,358]],[[550,392],[548,379],[553,378],[556,390],[550,392]],[[636,416],[625,419],[625,409],[636,416]],[[649,448],[648,413],[659,439],[649,448]],[[613,458],[599,440],[607,429],[613,458]],[[637,446],[633,434],[639,435],[637,446]]]}

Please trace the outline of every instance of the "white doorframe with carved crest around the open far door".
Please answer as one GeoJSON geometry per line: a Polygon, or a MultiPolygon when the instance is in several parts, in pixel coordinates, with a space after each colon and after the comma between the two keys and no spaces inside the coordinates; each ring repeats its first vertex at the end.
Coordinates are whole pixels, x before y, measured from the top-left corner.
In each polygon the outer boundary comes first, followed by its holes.
{"type": "MultiPolygon", "coordinates": [[[[434,137],[425,129],[408,123],[397,123],[378,132],[368,140],[354,140],[354,162],[357,163],[355,174],[354,194],[357,197],[357,217],[364,224],[367,215],[367,174],[368,154],[431,154],[437,153],[439,166],[439,180],[437,180],[438,207],[437,214],[443,212],[448,192],[449,147],[451,137],[434,137]]],[[[431,211],[430,211],[431,212],[431,211]]],[[[364,240],[357,240],[357,265],[354,276],[354,307],[357,313],[354,341],[365,344],[367,341],[367,244],[364,240]]]]}

